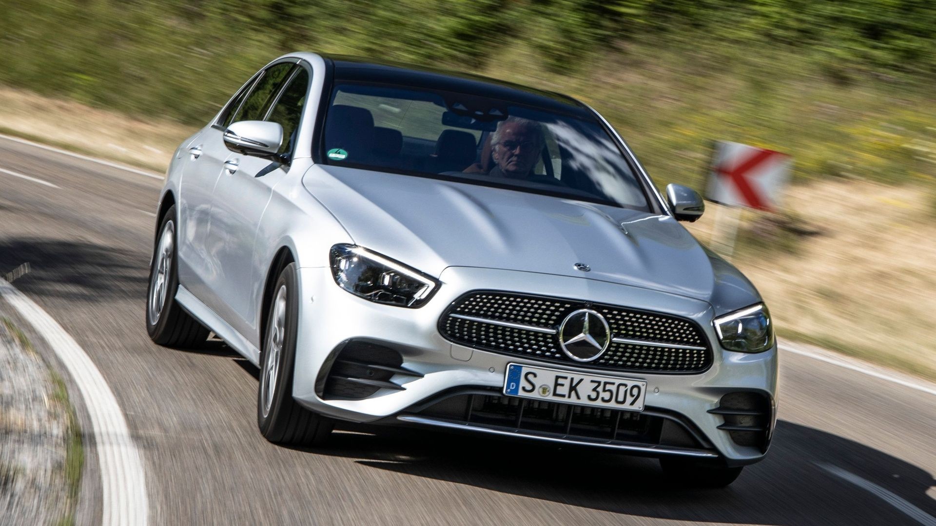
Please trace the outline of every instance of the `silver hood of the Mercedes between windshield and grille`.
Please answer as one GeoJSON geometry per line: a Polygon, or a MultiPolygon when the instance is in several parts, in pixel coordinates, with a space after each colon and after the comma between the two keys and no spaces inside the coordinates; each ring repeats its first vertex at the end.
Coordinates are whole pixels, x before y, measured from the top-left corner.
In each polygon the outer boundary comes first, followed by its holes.
{"type": "Polygon", "coordinates": [[[433,276],[453,266],[558,274],[706,300],[717,312],[759,300],[668,215],[323,165],[303,183],[358,245],[433,276]]]}

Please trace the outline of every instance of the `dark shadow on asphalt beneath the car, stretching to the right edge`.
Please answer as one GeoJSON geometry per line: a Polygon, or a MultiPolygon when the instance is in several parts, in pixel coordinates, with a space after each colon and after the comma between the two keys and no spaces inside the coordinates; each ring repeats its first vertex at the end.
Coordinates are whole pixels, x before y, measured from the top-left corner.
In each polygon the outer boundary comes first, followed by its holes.
{"type": "Polygon", "coordinates": [[[925,470],[788,421],[778,422],[767,459],[746,468],[728,489],[680,487],[667,481],[651,459],[438,431],[342,424],[328,446],[308,451],[402,475],[629,516],[757,524],[915,524],[868,489],[824,467],[837,466],[936,515],[936,502],[927,495],[936,481],[925,470]]]}

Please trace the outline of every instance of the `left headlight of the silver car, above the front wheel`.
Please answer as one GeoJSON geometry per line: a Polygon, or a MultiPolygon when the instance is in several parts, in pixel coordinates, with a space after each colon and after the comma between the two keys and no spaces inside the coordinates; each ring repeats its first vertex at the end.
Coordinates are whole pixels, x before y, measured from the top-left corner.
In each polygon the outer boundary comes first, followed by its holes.
{"type": "Polygon", "coordinates": [[[330,256],[335,283],[365,300],[416,308],[439,286],[418,270],[356,245],[336,244],[330,256]]]}

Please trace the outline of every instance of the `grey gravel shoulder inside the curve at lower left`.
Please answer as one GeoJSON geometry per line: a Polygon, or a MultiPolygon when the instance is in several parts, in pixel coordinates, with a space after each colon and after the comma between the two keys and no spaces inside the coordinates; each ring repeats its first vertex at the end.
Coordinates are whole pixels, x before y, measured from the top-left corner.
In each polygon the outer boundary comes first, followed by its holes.
{"type": "Polygon", "coordinates": [[[83,458],[65,382],[0,311],[0,522],[74,524],[83,458]]]}

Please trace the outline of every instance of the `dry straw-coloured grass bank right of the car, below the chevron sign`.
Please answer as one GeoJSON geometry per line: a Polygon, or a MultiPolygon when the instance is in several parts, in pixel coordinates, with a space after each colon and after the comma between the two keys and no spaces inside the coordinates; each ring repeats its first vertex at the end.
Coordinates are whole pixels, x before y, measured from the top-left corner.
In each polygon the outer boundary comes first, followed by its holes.
{"type": "MultiPolygon", "coordinates": [[[[768,302],[780,333],[936,378],[929,192],[827,180],[792,186],[786,197],[786,207],[821,233],[801,238],[796,250],[739,246],[731,258],[768,302]]],[[[744,222],[755,217],[747,212],[744,222]]],[[[691,228],[709,241],[713,223],[706,217],[691,228]]]]}

